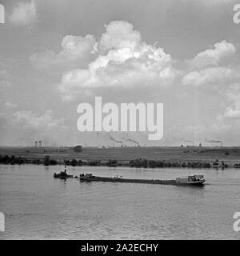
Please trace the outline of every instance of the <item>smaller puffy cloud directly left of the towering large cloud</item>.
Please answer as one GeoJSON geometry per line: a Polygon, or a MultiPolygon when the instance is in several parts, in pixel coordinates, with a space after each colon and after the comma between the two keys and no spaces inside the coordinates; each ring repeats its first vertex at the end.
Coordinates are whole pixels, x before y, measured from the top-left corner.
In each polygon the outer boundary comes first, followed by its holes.
{"type": "Polygon", "coordinates": [[[93,35],[85,37],[66,35],[62,38],[62,50],[56,54],[52,50],[34,53],[30,61],[37,68],[48,68],[50,66],[66,66],[78,59],[88,59],[90,54],[95,53],[96,40],[93,35]]]}

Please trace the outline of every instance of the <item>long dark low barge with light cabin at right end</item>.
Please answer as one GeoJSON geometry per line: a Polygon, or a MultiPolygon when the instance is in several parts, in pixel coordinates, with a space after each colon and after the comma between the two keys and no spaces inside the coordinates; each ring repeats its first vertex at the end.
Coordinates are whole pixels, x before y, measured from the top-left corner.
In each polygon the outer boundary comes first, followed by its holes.
{"type": "Polygon", "coordinates": [[[146,184],[162,184],[162,185],[191,185],[202,186],[205,182],[203,175],[192,175],[182,178],[161,180],[161,179],[137,179],[137,178],[122,178],[122,177],[100,177],[93,174],[80,174],[81,182],[125,182],[125,183],[146,183],[146,184]]]}

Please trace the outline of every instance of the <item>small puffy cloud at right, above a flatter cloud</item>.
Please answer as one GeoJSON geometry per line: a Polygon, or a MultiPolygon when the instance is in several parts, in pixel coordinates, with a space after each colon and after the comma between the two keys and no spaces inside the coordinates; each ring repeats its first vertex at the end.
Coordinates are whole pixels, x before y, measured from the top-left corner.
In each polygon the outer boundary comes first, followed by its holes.
{"type": "Polygon", "coordinates": [[[224,58],[233,56],[236,48],[225,40],[214,44],[214,49],[207,49],[197,54],[191,61],[191,68],[204,68],[206,66],[218,66],[224,58]]]}

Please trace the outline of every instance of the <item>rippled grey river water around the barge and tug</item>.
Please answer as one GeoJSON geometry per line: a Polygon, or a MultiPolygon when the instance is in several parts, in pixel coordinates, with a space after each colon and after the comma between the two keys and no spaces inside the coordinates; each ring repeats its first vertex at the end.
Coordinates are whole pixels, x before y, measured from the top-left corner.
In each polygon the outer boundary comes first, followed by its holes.
{"type": "Polygon", "coordinates": [[[124,178],[204,174],[206,186],[54,179],[62,166],[0,166],[1,239],[238,239],[239,170],[72,167],[68,173],[124,178]]]}

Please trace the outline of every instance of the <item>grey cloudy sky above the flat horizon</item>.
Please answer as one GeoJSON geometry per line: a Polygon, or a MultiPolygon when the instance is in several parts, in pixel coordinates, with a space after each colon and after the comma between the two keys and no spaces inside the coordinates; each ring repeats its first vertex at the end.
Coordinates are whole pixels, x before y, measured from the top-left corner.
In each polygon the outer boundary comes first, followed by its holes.
{"type": "Polygon", "coordinates": [[[0,0],[0,146],[239,146],[237,2],[0,0]],[[79,132],[77,107],[96,96],[163,103],[162,139],[79,132]]]}

